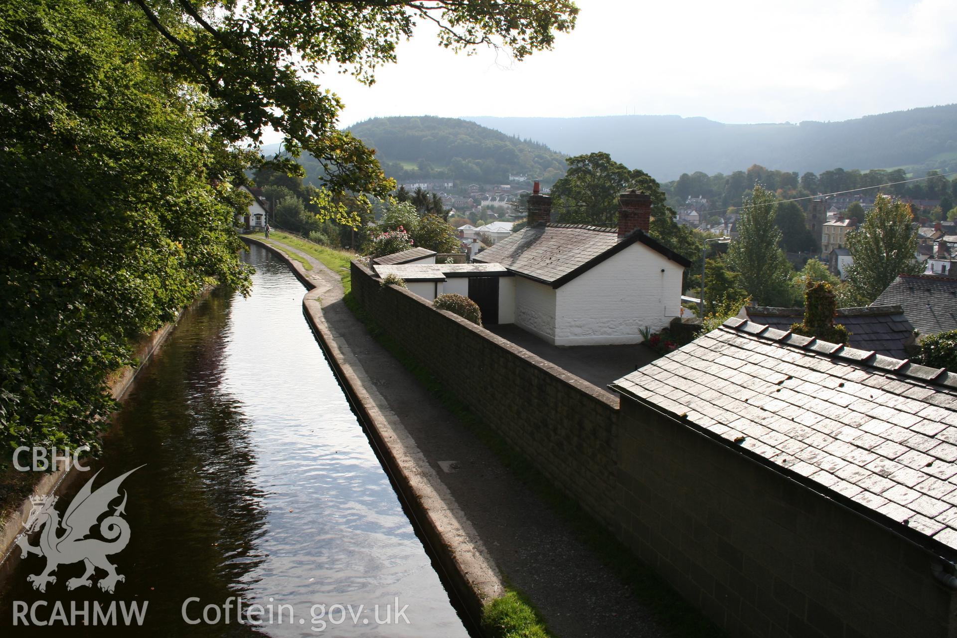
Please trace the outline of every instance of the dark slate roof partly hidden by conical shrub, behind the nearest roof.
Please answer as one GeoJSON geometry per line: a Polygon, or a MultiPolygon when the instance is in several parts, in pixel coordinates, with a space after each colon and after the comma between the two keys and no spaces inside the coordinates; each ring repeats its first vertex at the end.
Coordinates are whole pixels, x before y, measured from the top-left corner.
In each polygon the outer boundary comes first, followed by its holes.
{"type": "MultiPolygon", "coordinates": [[[[745,306],[741,319],[751,319],[778,330],[790,330],[790,324],[804,320],[804,308],[768,308],[745,306]]],[[[851,347],[874,350],[879,355],[906,359],[905,345],[913,340],[914,326],[903,314],[899,305],[865,306],[863,308],[838,308],[835,323],[850,331],[851,347]]]]}

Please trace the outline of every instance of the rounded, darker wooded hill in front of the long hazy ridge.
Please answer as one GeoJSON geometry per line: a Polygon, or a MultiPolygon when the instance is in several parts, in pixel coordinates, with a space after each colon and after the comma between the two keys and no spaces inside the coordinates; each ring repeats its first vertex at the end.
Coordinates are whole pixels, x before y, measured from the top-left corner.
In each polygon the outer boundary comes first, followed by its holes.
{"type": "Polygon", "coordinates": [[[552,184],[565,174],[565,156],[472,121],[453,118],[374,118],[348,129],[376,149],[386,175],[400,183],[444,179],[507,184],[526,175],[552,184]]]}

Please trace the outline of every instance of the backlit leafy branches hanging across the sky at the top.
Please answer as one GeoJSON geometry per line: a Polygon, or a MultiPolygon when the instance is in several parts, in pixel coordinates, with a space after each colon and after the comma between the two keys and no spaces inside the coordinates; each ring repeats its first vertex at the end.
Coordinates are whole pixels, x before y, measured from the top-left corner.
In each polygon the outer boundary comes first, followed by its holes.
{"type": "Polygon", "coordinates": [[[373,150],[339,130],[343,103],[314,77],[334,71],[371,84],[419,24],[433,25],[442,47],[488,45],[521,60],[549,49],[578,13],[569,0],[131,1],[165,41],[163,71],[211,98],[206,114],[224,140],[258,142],[271,127],[289,153],[276,163],[300,171],[295,158],[305,150],[322,165],[325,187],[378,196],[394,184],[373,150]]]}

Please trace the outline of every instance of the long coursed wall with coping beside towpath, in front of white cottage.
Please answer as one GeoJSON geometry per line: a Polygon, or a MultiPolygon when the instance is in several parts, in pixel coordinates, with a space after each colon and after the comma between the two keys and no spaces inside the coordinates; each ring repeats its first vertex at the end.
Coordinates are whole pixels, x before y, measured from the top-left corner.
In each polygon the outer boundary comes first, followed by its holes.
{"type": "Polygon", "coordinates": [[[380,287],[354,262],[352,294],[459,401],[612,526],[617,397],[405,289],[380,287]]]}

